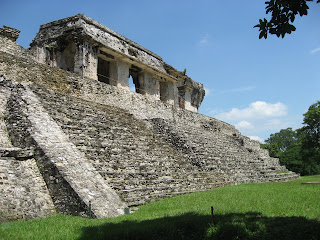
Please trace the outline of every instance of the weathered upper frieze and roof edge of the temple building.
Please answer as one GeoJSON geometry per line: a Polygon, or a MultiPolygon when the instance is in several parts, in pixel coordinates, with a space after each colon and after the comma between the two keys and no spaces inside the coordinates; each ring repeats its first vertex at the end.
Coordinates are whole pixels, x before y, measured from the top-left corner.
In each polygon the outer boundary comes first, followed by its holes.
{"type": "Polygon", "coordinates": [[[166,73],[161,57],[83,14],[41,25],[31,46],[55,46],[61,36],[73,30],[80,37],[90,36],[104,47],[166,73]]]}

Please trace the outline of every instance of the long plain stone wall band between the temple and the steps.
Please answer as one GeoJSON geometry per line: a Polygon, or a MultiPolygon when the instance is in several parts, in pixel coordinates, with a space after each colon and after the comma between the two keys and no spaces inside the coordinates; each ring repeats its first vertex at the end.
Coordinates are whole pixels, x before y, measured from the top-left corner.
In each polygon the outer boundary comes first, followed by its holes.
{"type": "Polygon", "coordinates": [[[190,111],[186,111],[160,100],[149,98],[141,94],[132,93],[108,84],[91,79],[82,79],[76,74],[33,61],[26,62],[23,59],[1,54],[0,71],[6,73],[7,79],[21,81],[25,79],[36,82],[52,91],[71,94],[86,100],[107,104],[128,110],[138,119],[163,118],[177,122],[210,122],[216,128],[227,134],[240,135],[234,126],[220,120],[190,111]],[[36,79],[35,79],[36,78],[36,79]]]}

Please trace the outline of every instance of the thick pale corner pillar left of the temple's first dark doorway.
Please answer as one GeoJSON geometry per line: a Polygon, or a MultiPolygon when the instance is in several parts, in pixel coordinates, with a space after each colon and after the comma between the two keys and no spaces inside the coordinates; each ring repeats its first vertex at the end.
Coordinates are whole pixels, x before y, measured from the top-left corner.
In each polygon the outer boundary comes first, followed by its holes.
{"type": "Polygon", "coordinates": [[[96,47],[86,41],[77,44],[74,57],[74,72],[83,77],[98,80],[98,55],[96,47]]]}

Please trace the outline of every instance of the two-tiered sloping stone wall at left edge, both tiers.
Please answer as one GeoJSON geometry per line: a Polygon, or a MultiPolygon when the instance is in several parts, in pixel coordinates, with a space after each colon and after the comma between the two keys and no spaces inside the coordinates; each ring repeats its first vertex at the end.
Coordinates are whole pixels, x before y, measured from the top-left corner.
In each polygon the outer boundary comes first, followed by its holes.
{"type": "Polygon", "coordinates": [[[32,149],[13,147],[4,121],[10,90],[0,85],[0,222],[55,213],[32,149]]]}

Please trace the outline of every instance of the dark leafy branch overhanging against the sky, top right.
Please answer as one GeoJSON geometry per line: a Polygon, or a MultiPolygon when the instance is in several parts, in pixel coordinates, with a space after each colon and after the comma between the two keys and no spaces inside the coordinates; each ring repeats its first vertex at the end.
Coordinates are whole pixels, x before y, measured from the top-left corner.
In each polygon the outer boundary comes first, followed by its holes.
{"type": "MultiPolygon", "coordinates": [[[[271,13],[271,19],[260,19],[259,24],[254,27],[258,27],[260,31],[259,39],[267,38],[268,33],[275,34],[277,37],[282,37],[286,33],[291,34],[291,32],[296,30],[296,27],[291,23],[294,22],[296,15],[308,15],[308,5],[307,2],[312,2],[313,0],[270,0],[265,2],[266,14],[271,13]]],[[[320,3],[320,0],[317,1],[320,3]]]]}

